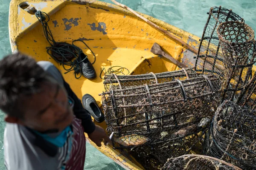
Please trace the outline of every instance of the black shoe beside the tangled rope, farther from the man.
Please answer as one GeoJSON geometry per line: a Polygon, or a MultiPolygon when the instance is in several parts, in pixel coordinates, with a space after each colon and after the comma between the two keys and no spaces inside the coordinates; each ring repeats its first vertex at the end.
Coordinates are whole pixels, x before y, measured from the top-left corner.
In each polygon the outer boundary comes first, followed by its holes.
{"type": "Polygon", "coordinates": [[[79,62],[83,61],[80,63],[81,72],[83,76],[87,79],[96,78],[96,71],[93,68],[92,63],[89,61],[88,57],[84,53],[80,53],[78,60],[79,62]]]}

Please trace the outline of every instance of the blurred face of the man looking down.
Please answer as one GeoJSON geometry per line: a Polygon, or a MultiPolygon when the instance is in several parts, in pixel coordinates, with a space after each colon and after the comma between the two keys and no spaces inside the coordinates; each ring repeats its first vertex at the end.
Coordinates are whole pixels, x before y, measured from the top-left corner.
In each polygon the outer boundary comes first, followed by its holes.
{"type": "Polygon", "coordinates": [[[73,111],[68,103],[67,92],[57,84],[44,83],[42,91],[26,97],[24,119],[27,127],[44,132],[64,130],[73,121],[73,111]]]}

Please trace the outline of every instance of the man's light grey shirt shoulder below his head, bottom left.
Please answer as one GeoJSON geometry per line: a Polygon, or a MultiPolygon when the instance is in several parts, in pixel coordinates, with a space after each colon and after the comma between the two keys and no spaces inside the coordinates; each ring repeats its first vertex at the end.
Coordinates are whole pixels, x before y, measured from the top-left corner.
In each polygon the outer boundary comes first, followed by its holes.
{"type": "Polygon", "coordinates": [[[6,123],[4,156],[8,170],[57,169],[58,155],[47,156],[33,144],[34,139],[35,136],[26,127],[6,123]]]}

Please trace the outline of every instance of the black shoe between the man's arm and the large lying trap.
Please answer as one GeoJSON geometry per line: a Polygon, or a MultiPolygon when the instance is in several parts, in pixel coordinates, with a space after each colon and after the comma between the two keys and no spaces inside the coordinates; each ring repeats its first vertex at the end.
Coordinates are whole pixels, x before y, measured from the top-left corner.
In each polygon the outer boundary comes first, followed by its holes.
{"type": "Polygon", "coordinates": [[[93,118],[101,123],[105,120],[105,116],[97,105],[96,100],[90,94],[84,94],[82,97],[82,103],[84,108],[90,113],[93,118]]]}

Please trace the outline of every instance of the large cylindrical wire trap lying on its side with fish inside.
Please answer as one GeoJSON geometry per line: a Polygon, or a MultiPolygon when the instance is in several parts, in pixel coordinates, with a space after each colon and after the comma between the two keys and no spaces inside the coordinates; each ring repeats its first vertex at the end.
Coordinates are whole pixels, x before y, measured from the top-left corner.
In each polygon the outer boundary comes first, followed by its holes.
{"type": "Polygon", "coordinates": [[[219,105],[219,89],[218,76],[211,74],[102,93],[107,131],[115,133],[113,146],[163,143],[200,131],[202,117],[212,118],[219,105]],[[182,128],[192,131],[178,132],[182,128]],[[143,142],[132,142],[139,141],[138,135],[143,142]]]}

